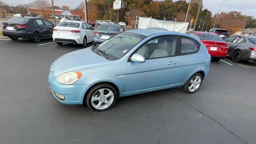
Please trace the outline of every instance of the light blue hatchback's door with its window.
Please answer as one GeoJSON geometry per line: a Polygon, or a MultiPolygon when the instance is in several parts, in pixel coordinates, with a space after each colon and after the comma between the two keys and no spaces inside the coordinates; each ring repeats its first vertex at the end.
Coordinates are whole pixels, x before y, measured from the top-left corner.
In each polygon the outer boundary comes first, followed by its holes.
{"type": "Polygon", "coordinates": [[[180,68],[175,56],[177,41],[176,36],[153,38],[134,52],[144,56],[145,62],[127,63],[126,95],[172,86],[180,68]]]}

